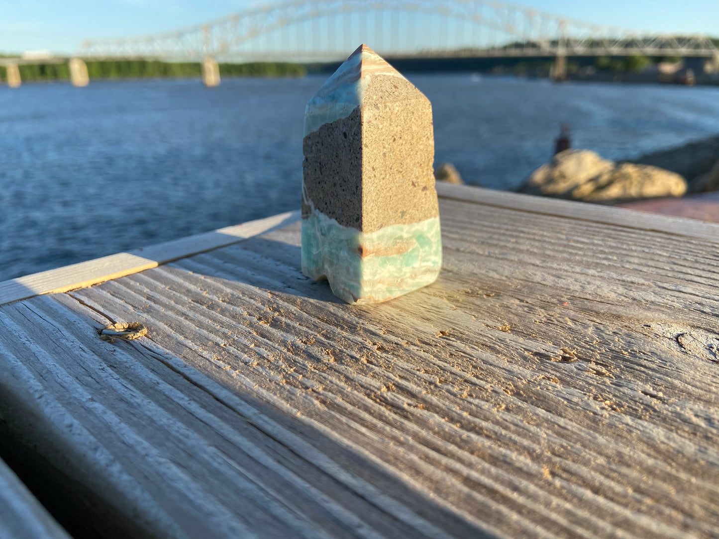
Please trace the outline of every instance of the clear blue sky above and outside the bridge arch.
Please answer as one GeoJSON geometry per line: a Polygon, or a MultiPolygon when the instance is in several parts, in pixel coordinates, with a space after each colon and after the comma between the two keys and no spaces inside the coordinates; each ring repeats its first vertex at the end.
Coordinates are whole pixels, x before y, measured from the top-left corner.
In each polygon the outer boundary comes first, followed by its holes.
{"type": "MultiPolygon", "coordinates": [[[[89,37],[191,26],[265,0],[0,0],[0,51],[73,52],[89,37]]],[[[718,0],[518,0],[513,2],[632,29],[719,36],[718,0]]]]}

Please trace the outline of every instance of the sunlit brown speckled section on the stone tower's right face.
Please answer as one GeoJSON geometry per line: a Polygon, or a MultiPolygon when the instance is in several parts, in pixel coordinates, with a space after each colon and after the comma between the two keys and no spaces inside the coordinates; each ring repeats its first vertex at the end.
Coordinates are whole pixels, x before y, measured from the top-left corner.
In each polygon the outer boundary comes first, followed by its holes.
{"type": "Polygon", "coordinates": [[[429,100],[408,80],[372,78],[362,106],[362,231],[439,216],[429,100]]]}

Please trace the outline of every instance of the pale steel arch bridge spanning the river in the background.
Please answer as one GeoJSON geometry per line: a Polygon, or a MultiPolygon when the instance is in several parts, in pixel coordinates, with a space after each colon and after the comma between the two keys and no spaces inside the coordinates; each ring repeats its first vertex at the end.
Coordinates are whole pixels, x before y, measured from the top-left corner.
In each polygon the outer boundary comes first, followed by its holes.
{"type": "Polygon", "coordinates": [[[640,34],[482,0],[296,0],[175,32],[87,40],[77,56],[322,61],[360,42],[388,57],[719,56],[702,35],[640,34]]]}

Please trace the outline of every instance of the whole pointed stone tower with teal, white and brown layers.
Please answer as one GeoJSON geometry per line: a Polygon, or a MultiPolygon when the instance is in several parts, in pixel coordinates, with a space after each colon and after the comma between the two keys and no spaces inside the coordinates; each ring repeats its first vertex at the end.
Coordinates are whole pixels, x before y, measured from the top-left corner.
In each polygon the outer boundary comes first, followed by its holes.
{"type": "Polygon", "coordinates": [[[302,272],[347,303],[429,285],[442,259],[429,100],[362,45],[307,103],[302,272]]]}

